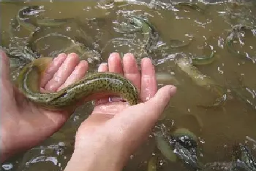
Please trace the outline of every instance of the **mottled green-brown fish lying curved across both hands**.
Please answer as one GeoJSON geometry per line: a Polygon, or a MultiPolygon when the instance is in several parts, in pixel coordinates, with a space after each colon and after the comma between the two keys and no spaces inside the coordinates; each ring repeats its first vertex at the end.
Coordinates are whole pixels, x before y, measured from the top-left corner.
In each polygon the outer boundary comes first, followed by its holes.
{"type": "Polygon", "coordinates": [[[50,57],[41,57],[26,65],[18,77],[18,88],[31,102],[50,111],[62,111],[74,108],[78,102],[94,100],[103,95],[119,95],[130,106],[139,102],[138,90],[128,79],[117,73],[91,73],[59,92],[42,93],[39,81],[45,68],[52,61],[50,57]]]}

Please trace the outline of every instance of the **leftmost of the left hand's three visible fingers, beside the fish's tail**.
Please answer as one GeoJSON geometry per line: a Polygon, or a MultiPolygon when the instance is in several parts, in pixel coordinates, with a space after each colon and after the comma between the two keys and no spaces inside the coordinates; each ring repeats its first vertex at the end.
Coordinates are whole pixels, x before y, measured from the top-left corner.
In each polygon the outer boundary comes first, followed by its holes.
{"type": "Polygon", "coordinates": [[[58,71],[59,67],[62,65],[62,63],[64,63],[64,60],[66,60],[66,58],[67,55],[61,53],[58,55],[58,57],[55,57],[53,59],[53,62],[50,63],[44,75],[42,76],[40,87],[45,87],[48,81],[50,81],[50,79],[53,79],[54,73],[58,71]]]}

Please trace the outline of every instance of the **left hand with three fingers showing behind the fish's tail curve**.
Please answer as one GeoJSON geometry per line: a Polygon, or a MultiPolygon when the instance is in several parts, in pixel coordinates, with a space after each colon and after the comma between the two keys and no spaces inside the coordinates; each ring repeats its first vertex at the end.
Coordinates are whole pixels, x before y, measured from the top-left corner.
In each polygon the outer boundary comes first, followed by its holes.
{"type": "MultiPolygon", "coordinates": [[[[25,151],[46,138],[67,121],[70,111],[47,111],[24,98],[10,81],[9,58],[1,57],[1,162],[25,151]],[[3,98],[4,97],[4,98],[3,98]]],[[[41,81],[41,92],[56,92],[78,79],[88,70],[88,63],[78,55],[60,54],[50,63],[41,81]]]]}

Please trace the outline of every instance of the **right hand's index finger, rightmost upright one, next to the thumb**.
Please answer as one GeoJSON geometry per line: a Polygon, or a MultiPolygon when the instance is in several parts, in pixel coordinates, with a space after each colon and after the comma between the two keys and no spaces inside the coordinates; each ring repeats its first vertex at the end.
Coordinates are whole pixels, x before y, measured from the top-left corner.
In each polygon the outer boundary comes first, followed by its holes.
{"type": "Polygon", "coordinates": [[[154,65],[148,57],[143,58],[140,64],[141,68],[141,92],[140,98],[146,102],[153,98],[157,92],[157,76],[154,65]]]}

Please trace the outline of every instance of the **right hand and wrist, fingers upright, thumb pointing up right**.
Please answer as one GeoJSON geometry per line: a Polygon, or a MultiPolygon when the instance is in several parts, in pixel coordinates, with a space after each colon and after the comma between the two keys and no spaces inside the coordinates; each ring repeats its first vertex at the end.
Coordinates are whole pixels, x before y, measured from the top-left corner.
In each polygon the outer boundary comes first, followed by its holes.
{"type": "Polygon", "coordinates": [[[140,92],[142,103],[128,106],[113,98],[97,100],[94,111],[77,132],[75,151],[67,164],[69,170],[121,170],[129,156],[148,138],[176,87],[165,86],[157,91],[157,81],[151,60],[143,58],[141,73],[135,57],[124,55],[123,66],[117,53],[110,55],[108,65],[99,66],[100,72],[123,74],[140,92]]]}

